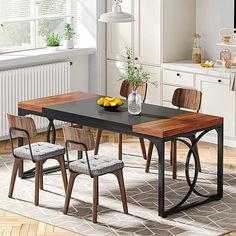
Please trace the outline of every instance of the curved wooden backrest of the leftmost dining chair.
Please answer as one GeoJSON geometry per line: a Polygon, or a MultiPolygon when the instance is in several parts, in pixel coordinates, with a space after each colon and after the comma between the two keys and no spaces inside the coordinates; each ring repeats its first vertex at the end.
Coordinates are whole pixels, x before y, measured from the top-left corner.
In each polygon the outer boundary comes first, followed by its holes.
{"type": "MultiPolygon", "coordinates": [[[[34,123],[34,120],[30,117],[25,116],[15,116],[7,114],[9,128],[17,128],[26,130],[29,133],[30,138],[37,135],[37,129],[34,123]]],[[[27,135],[23,131],[12,130],[13,137],[26,138],[27,135]]]]}

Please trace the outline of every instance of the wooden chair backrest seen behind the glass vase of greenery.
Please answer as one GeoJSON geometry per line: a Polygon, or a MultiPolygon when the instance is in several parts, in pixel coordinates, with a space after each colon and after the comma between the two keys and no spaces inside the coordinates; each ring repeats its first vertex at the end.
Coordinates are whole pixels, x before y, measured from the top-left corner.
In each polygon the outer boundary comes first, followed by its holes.
{"type": "MultiPolygon", "coordinates": [[[[120,87],[120,96],[127,99],[132,90],[132,84],[128,83],[127,81],[123,81],[120,87]]],[[[141,95],[142,101],[145,102],[147,94],[147,83],[143,83],[141,86],[139,86],[137,92],[141,95]]]]}

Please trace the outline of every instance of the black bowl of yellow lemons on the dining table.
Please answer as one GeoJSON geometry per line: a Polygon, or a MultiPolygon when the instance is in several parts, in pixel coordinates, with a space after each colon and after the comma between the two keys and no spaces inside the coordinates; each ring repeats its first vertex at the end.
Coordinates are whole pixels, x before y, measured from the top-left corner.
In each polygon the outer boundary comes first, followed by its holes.
{"type": "Polygon", "coordinates": [[[123,105],[123,102],[117,97],[101,97],[97,100],[97,104],[106,111],[116,111],[118,107],[123,105]]]}

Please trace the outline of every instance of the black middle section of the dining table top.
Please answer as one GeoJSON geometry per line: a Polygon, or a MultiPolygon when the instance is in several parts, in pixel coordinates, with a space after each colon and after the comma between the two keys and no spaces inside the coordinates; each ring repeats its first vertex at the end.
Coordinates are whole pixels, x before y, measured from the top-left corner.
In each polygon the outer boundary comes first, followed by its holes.
{"type": "Polygon", "coordinates": [[[58,120],[120,132],[131,132],[132,126],[136,124],[187,113],[187,111],[179,109],[142,104],[140,115],[130,115],[126,100],[123,101],[124,105],[119,107],[117,111],[106,111],[103,107],[97,105],[97,99],[96,97],[47,106],[43,108],[43,113],[58,120]]]}

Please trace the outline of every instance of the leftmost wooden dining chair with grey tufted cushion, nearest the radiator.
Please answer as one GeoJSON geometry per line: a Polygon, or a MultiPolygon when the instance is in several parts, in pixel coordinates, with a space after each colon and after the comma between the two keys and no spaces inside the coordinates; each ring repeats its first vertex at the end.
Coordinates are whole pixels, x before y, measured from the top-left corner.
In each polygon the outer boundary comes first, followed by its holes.
{"type": "Polygon", "coordinates": [[[12,155],[14,157],[8,197],[12,198],[17,171],[23,160],[31,160],[35,163],[35,206],[39,205],[39,189],[43,190],[43,163],[46,160],[55,159],[59,162],[64,189],[66,191],[68,181],[64,161],[65,148],[61,145],[48,142],[31,143],[31,139],[37,135],[34,120],[30,117],[15,116],[11,114],[7,114],[7,117],[12,155]],[[27,144],[20,147],[14,147],[14,138],[26,138],[27,144]]]}

